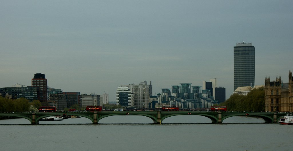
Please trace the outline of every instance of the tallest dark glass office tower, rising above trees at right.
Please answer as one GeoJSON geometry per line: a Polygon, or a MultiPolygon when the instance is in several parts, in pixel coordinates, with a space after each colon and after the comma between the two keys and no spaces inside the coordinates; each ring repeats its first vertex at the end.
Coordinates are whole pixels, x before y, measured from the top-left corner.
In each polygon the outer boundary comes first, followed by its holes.
{"type": "Polygon", "coordinates": [[[255,48],[252,43],[237,43],[234,47],[234,90],[242,86],[254,87],[255,48]]]}

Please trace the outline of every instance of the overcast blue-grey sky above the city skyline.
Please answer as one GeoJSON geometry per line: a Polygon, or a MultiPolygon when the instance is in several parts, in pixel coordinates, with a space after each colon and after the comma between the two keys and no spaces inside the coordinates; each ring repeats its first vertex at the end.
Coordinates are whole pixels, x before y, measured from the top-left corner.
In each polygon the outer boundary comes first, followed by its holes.
{"type": "Polygon", "coordinates": [[[255,85],[292,70],[293,1],[1,1],[0,87],[48,86],[86,94],[152,82],[162,88],[217,78],[234,91],[233,47],[255,46],[255,85]]]}

